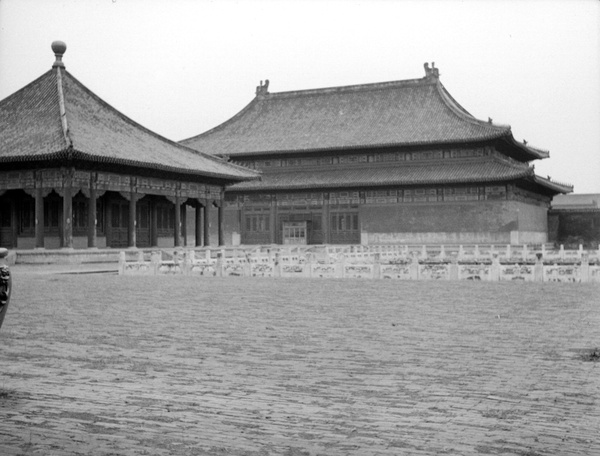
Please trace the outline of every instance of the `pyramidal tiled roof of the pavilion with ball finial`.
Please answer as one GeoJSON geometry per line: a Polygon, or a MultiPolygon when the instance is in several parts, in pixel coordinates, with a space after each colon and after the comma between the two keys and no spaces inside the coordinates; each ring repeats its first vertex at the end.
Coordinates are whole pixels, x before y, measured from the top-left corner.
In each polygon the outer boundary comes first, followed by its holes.
{"type": "Polygon", "coordinates": [[[67,137],[60,116],[57,70],[0,101],[0,161],[52,160],[69,149],[80,159],[240,181],[246,168],[198,153],[140,126],[61,71],[67,137]],[[69,146],[72,143],[72,147],[69,146]]]}

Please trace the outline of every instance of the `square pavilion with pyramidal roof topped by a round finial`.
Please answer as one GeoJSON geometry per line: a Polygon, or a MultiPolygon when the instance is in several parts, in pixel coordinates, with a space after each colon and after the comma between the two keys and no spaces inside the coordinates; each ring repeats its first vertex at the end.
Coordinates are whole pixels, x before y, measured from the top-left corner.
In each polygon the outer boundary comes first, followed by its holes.
{"type": "Polygon", "coordinates": [[[52,49],[52,68],[0,101],[0,246],[223,244],[225,187],[257,174],[135,123],[52,49]]]}

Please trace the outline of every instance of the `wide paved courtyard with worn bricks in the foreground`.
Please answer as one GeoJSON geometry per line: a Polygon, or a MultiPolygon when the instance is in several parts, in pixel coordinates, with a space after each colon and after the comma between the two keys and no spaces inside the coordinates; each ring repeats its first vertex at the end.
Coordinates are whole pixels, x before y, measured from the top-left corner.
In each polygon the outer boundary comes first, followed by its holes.
{"type": "Polygon", "coordinates": [[[44,271],[2,455],[600,454],[598,284],[44,271]]]}

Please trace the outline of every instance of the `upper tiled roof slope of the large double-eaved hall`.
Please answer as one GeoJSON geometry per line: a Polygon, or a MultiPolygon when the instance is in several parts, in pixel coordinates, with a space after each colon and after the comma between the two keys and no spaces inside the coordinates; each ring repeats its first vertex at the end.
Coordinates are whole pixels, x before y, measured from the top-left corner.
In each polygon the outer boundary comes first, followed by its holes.
{"type": "Polygon", "coordinates": [[[437,79],[257,96],[220,126],[182,141],[217,155],[472,142],[512,137],[472,117],[437,79]]]}

